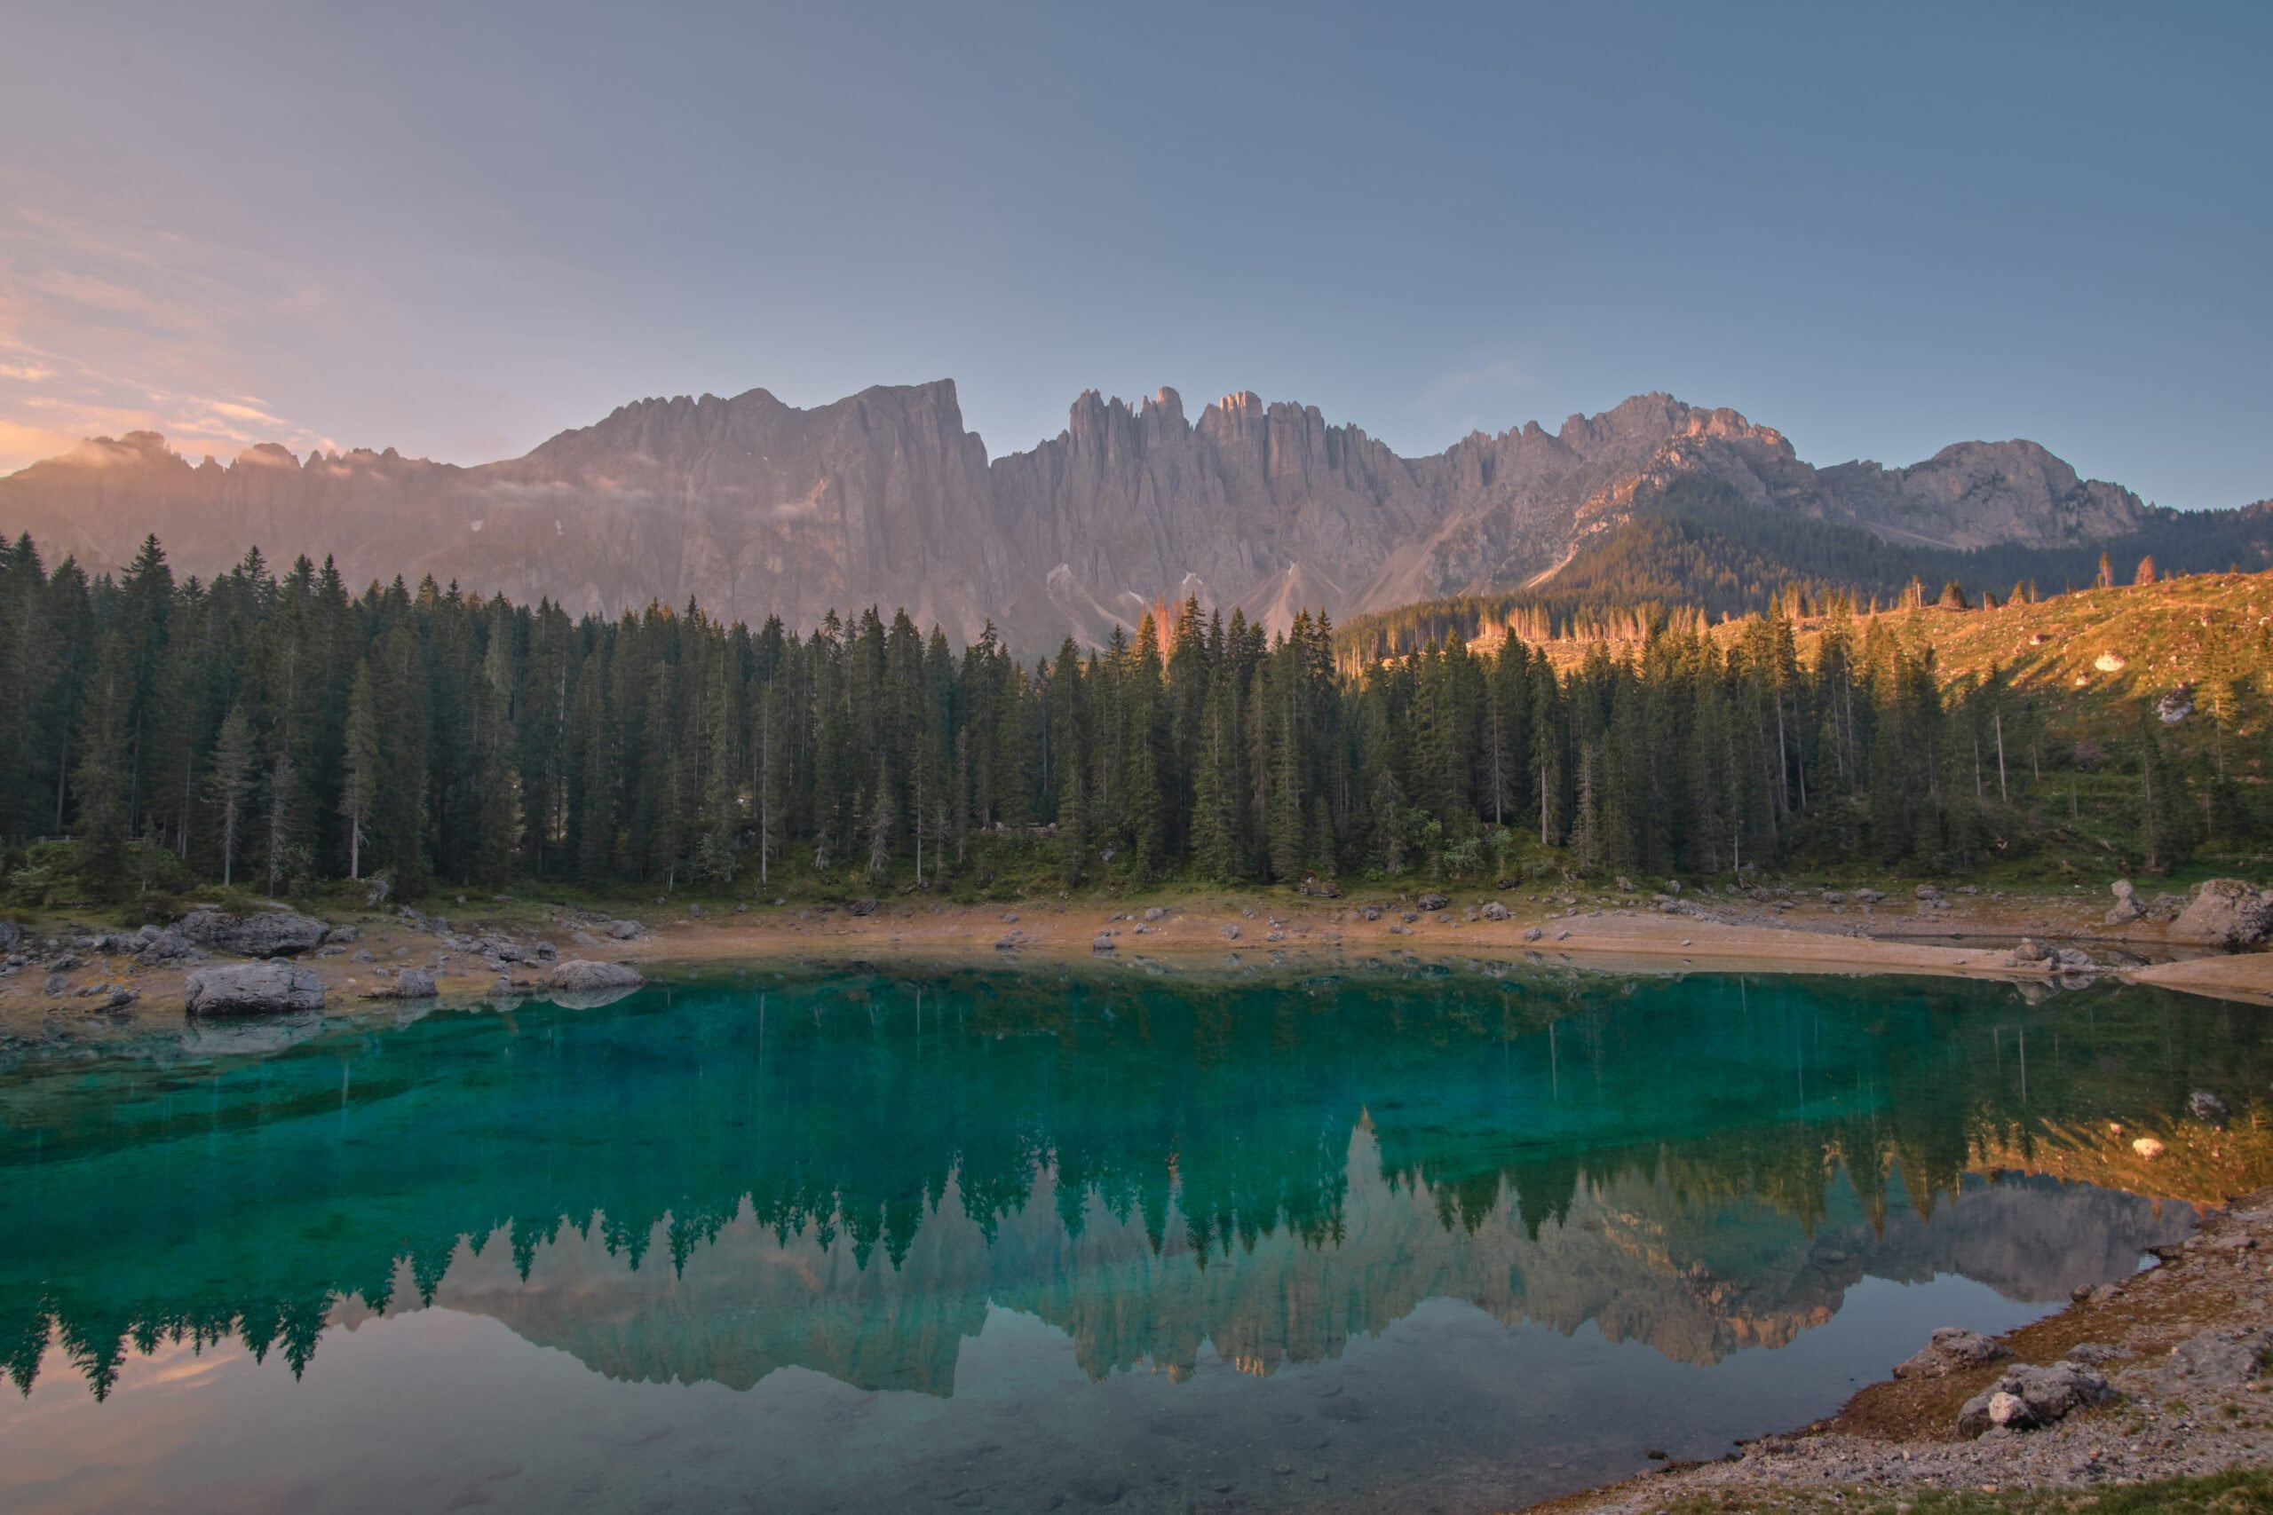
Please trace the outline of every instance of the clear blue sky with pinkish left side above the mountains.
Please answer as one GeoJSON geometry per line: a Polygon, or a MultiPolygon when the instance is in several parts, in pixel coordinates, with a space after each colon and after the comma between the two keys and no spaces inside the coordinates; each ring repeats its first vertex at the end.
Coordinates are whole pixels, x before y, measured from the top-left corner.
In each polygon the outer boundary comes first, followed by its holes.
{"type": "Polygon", "coordinates": [[[1671,391],[2273,495],[2273,5],[7,0],[0,470],[525,452],[646,395],[1671,391]]]}

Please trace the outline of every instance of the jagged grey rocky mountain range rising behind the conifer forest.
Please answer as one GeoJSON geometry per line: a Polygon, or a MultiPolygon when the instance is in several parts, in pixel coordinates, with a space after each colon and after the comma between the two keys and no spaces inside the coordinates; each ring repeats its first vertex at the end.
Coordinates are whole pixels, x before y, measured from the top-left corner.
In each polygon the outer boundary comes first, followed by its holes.
{"type": "Polygon", "coordinates": [[[434,575],[571,613],[698,600],[791,627],[907,606],[1046,650],[1184,595],[1284,627],[1550,586],[1682,482],[1757,520],[1930,550],[2082,547],[2175,518],[2028,441],[1812,468],[1771,427],[1657,393],[1405,459],[1316,407],[1239,393],[1191,420],[1171,388],[1136,407],[1089,391],[1059,436],[989,459],[941,379],[816,409],[761,388],[641,400],[477,468],[277,445],[191,463],[130,432],[0,479],[0,529],[89,568],[155,531],[177,572],[257,543],[273,563],[332,554],[350,586],[434,575]]]}

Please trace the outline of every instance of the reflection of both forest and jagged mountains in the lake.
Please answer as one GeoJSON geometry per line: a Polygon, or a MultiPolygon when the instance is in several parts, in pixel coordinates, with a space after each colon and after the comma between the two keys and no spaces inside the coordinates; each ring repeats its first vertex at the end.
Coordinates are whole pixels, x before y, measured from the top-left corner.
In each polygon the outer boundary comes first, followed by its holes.
{"type": "Polygon", "coordinates": [[[1459,1297],[1709,1363],[1864,1274],[2128,1272],[2187,1213],[2078,1133],[2175,1129],[2207,1083],[2255,1163],[2268,1054],[2150,990],[1887,979],[834,972],[446,1011],[0,1077],[0,1345],[23,1390],[59,1342],[105,1395],[161,1340],[298,1372],[443,1304],[611,1376],[948,1392],[989,1304],[1091,1374],[1268,1372],[1459,1297]]]}

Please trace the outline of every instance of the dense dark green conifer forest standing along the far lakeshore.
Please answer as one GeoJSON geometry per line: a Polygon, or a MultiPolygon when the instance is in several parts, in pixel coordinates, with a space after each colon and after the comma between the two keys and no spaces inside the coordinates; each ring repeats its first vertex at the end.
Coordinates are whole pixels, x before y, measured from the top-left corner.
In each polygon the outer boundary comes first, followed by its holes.
{"type": "MultiPolygon", "coordinates": [[[[2262,829],[2216,752],[2182,761],[2139,711],[2116,759],[2139,861],[2262,829]]],[[[875,609],[802,636],[696,606],[571,620],[257,552],[175,581],[157,541],[93,581],[0,554],[0,754],[18,904],[1968,868],[2025,849],[2057,813],[2046,770],[2078,761],[2003,677],[1943,686],[1930,650],[1837,611],[1812,663],[1768,616],[1568,675],[1457,636],[1352,675],[1323,618],[1266,636],[1187,602],[1023,663],[875,609]]]]}

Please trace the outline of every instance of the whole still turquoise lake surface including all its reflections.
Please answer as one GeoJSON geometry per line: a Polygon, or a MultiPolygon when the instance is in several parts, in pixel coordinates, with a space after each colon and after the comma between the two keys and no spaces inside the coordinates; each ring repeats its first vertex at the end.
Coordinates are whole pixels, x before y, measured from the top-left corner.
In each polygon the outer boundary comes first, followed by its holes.
{"type": "Polygon", "coordinates": [[[2255,1013],[1864,979],[714,977],[0,1074],[0,1506],[1507,1508],[2184,1206],[2255,1013]],[[218,1047],[218,1049],[216,1049],[218,1047]]]}

